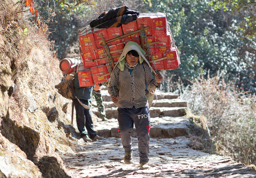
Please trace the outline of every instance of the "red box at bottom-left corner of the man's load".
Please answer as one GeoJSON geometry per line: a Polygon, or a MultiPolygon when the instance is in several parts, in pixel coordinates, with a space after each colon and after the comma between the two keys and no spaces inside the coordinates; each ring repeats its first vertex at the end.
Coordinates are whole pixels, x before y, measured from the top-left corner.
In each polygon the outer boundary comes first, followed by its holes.
{"type": "Polygon", "coordinates": [[[92,72],[90,69],[88,70],[83,70],[83,71],[78,71],[78,81],[79,81],[79,86],[93,86],[93,78],[92,78],[92,72]]]}

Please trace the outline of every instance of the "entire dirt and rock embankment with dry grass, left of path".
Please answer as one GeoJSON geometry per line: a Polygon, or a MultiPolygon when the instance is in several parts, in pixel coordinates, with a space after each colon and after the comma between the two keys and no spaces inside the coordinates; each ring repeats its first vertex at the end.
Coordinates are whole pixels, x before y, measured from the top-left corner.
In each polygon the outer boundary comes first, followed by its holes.
{"type": "Polygon", "coordinates": [[[30,26],[18,10],[12,1],[0,5],[0,177],[69,177],[55,152],[76,152],[71,101],[54,87],[59,59],[46,27],[30,26]]]}

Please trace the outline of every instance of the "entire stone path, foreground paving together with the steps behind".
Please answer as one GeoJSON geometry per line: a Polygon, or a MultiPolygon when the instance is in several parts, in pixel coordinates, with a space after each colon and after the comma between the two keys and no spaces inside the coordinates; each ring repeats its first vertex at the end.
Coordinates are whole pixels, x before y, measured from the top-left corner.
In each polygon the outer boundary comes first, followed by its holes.
{"type": "MultiPolygon", "coordinates": [[[[151,169],[139,169],[138,142],[133,130],[133,164],[123,161],[124,150],[118,134],[117,111],[106,90],[104,104],[108,121],[95,128],[105,137],[92,143],[78,140],[80,151],[62,154],[73,178],[256,178],[256,171],[227,156],[210,155],[188,147],[192,119],[185,117],[186,102],[173,93],[157,94],[157,103],[150,108],[151,169]]],[[[93,111],[97,115],[97,108],[93,111]]]]}

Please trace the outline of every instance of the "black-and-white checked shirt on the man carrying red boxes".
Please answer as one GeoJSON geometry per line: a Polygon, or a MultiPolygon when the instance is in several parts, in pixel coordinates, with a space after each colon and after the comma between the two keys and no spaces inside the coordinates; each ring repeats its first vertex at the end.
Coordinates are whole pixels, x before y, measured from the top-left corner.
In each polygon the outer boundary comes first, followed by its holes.
{"type": "Polygon", "coordinates": [[[111,73],[111,83],[108,88],[111,98],[115,95],[114,91],[117,92],[119,89],[119,100],[115,105],[119,108],[132,108],[135,106],[136,109],[148,106],[149,103],[145,95],[145,79],[147,87],[152,89],[159,88],[161,85],[155,81],[148,64],[145,62],[143,62],[143,65],[139,63],[131,74],[127,67],[125,67],[124,71],[115,67],[111,73]]]}

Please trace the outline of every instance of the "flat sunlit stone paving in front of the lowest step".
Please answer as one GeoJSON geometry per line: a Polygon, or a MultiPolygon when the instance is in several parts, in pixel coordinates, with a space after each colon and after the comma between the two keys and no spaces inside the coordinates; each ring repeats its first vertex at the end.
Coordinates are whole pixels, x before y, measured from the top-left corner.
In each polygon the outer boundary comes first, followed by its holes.
{"type": "Polygon", "coordinates": [[[81,143],[75,155],[62,155],[73,178],[256,178],[256,171],[238,164],[227,156],[209,155],[187,147],[189,139],[151,138],[151,169],[139,169],[138,142],[133,138],[133,164],[123,161],[124,150],[120,138],[106,138],[92,143],[81,143]]]}

